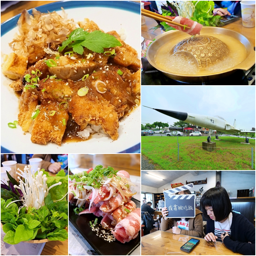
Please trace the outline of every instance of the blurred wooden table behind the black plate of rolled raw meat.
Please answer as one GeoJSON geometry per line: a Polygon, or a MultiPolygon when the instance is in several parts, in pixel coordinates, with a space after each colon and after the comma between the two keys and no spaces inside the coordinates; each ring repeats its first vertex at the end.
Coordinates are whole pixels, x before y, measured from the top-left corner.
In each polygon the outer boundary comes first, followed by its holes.
{"type": "Polygon", "coordinates": [[[96,165],[111,166],[115,170],[125,170],[130,175],[140,176],[140,154],[82,154],[80,168],[89,169],[96,165]]]}

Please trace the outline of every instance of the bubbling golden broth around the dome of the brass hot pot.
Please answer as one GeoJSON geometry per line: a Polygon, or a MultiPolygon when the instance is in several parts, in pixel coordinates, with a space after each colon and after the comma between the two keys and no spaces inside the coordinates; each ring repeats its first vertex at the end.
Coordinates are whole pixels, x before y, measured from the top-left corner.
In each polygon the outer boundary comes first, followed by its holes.
{"type": "Polygon", "coordinates": [[[155,63],[161,69],[168,72],[184,74],[184,75],[210,75],[215,72],[223,71],[225,69],[236,66],[245,60],[246,49],[245,46],[236,38],[229,35],[204,33],[202,35],[211,35],[220,39],[230,49],[230,53],[225,59],[218,61],[214,65],[207,68],[199,69],[195,58],[189,57],[189,54],[171,54],[173,47],[185,38],[189,38],[187,34],[181,37],[173,39],[168,44],[164,44],[160,47],[155,54],[155,63]]]}

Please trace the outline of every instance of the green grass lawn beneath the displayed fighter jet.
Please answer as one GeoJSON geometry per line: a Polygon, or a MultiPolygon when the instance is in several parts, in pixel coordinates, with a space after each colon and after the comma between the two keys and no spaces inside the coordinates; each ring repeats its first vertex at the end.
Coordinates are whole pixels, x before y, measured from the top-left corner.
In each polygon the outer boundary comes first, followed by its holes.
{"type": "Polygon", "coordinates": [[[212,152],[203,150],[202,142],[207,137],[179,137],[179,161],[177,136],[142,136],[142,154],[155,164],[155,170],[252,170],[251,148],[253,147],[253,170],[255,170],[255,140],[250,145],[241,144],[244,138],[219,137],[214,140],[216,148],[212,152]],[[199,146],[199,147],[188,147],[199,146]],[[224,148],[241,148],[224,149],[224,148]],[[244,149],[247,148],[247,149],[244,149]]]}

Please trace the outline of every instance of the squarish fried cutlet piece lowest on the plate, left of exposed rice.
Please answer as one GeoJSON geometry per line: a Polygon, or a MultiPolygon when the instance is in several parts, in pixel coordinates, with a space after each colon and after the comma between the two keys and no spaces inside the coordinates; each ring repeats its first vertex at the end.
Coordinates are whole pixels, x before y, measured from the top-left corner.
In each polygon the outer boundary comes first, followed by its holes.
{"type": "Polygon", "coordinates": [[[47,142],[54,142],[61,145],[66,124],[68,121],[68,110],[59,110],[59,103],[43,100],[41,102],[40,113],[34,120],[31,132],[31,141],[46,145],[47,142]],[[53,116],[52,111],[56,111],[53,116]]]}

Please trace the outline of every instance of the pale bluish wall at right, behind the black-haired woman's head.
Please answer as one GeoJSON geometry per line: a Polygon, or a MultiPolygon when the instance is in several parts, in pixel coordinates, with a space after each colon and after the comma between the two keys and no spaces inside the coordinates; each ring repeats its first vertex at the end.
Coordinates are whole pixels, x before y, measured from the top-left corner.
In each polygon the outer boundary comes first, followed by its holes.
{"type": "Polygon", "coordinates": [[[236,197],[238,189],[250,189],[255,187],[255,175],[221,172],[221,187],[233,193],[230,197],[236,197]]]}

